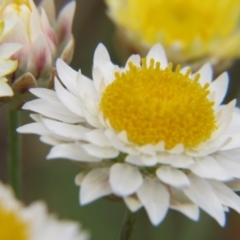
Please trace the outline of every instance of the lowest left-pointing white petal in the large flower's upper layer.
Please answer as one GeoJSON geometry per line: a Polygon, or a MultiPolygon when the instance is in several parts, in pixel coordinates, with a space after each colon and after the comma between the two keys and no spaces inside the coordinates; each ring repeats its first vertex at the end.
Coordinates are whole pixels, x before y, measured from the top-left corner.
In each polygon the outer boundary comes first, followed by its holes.
{"type": "Polygon", "coordinates": [[[54,146],[49,154],[47,155],[47,159],[54,158],[67,158],[80,162],[99,162],[101,158],[96,158],[87,154],[82,148],[80,144],[70,143],[70,144],[61,144],[54,146]]]}

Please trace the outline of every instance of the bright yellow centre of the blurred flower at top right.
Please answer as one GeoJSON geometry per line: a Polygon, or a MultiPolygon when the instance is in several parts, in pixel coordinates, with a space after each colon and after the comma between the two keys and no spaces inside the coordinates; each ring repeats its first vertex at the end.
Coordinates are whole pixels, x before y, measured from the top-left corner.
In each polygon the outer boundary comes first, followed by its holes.
{"type": "Polygon", "coordinates": [[[115,21],[150,45],[209,43],[239,26],[239,0],[106,0],[115,21]]]}

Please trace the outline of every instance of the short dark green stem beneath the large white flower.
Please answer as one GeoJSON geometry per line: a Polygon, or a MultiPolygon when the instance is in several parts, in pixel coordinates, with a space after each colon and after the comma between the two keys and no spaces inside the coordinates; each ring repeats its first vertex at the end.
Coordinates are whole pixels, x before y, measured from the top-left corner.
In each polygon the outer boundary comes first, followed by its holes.
{"type": "Polygon", "coordinates": [[[134,223],[136,222],[136,214],[126,210],[119,240],[130,240],[133,232],[134,223]]]}

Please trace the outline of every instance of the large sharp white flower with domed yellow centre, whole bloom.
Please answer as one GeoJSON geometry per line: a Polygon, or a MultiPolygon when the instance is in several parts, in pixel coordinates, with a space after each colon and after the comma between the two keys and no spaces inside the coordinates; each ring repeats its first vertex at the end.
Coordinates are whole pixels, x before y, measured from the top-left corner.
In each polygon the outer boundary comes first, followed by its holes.
{"type": "Polygon", "coordinates": [[[169,208],[197,220],[200,207],[221,226],[228,207],[240,212],[240,114],[235,101],[221,105],[226,73],[212,81],[209,64],[173,70],[160,44],[124,68],[100,44],[93,81],[61,59],[57,72],[55,91],[31,89],[39,99],[23,109],[38,114],[18,132],[53,145],[48,159],[81,164],[82,205],[114,194],[154,225],[169,208]]]}

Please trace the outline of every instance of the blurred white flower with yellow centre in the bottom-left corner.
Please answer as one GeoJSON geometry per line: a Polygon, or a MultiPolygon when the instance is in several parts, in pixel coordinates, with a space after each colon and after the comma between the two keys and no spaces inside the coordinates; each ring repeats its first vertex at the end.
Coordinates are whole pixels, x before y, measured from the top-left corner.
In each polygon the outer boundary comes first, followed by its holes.
{"type": "Polygon", "coordinates": [[[9,187],[0,183],[0,239],[88,240],[89,234],[72,221],[49,215],[43,202],[24,207],[9,187]]]}

